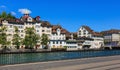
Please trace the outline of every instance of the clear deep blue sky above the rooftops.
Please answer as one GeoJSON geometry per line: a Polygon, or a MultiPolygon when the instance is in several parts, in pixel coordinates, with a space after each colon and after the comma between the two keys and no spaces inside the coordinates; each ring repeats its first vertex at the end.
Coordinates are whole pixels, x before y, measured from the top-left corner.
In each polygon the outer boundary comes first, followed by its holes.
{"type": "Polygon", "coordinates": [[[81,25],[95,31],[120,29],[120,0],[0,0],[0,12],[21,17],[19,9],[29,9],[51,24],[59,24],[70,32],[81,25]]]}

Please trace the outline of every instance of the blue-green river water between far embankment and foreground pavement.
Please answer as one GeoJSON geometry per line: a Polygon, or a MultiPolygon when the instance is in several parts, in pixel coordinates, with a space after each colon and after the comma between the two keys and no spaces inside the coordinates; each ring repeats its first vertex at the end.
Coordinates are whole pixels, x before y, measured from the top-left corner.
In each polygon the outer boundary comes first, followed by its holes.
{"type": "Polygon", "coordinates": [[[120,55],[120,50],[0,54],[0,65],[120,55]]]}

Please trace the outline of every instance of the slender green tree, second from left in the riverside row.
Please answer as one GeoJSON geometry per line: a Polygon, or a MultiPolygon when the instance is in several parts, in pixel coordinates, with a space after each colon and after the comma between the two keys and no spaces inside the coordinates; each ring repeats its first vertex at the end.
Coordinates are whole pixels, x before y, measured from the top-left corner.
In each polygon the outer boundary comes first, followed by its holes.
{"type": "Polygon", "coordinates": [[[21,44],[21,38],[18,34],[18,28],[16,26],[14,28],[15,28],[15,34],[13,35],[12,41],[13,41],[13,45],[15,45],[17,49],[19,49],[21,44]]]}

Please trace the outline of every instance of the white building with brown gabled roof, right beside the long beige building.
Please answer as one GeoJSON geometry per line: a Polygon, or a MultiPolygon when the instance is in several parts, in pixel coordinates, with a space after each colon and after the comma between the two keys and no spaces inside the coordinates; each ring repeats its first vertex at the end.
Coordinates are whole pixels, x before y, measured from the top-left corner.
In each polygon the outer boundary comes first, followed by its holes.
{"type": "Polygon", "coordinates": [[[50,48],[64,48],[66,46],[66,31],[59,25],[52,26],[52,34],[50,36],[50,48]]]}

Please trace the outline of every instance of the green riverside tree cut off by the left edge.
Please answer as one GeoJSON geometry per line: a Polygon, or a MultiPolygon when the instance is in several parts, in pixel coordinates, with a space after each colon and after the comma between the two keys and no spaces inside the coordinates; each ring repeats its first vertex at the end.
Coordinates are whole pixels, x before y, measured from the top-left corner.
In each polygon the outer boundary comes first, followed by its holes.
{"type": "Polygon", "coordinates": [[[7,45],[10,44],[10,41],[7,41],[7,34],[5,33],[6,27],[3,26],[0,28],[0,44],[2,45],[2,48],[6,49],[7,45]]]}

